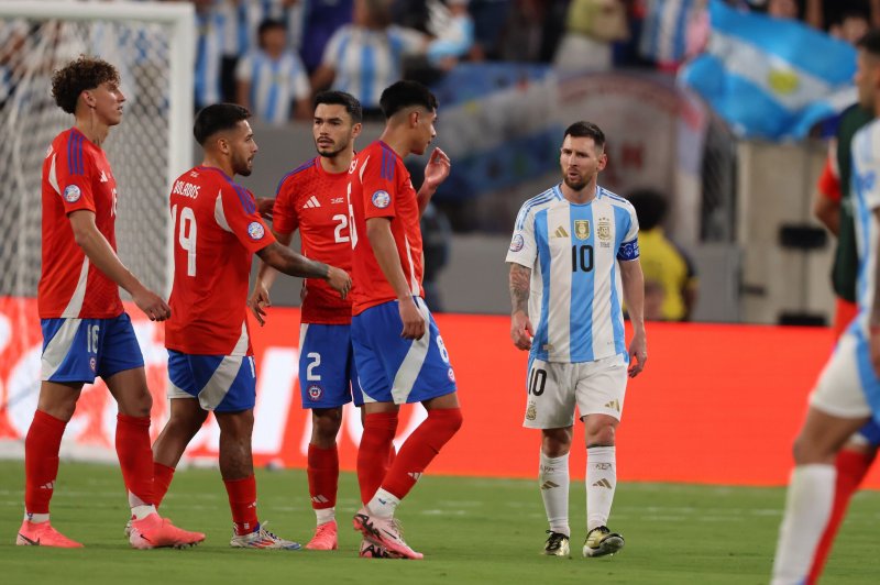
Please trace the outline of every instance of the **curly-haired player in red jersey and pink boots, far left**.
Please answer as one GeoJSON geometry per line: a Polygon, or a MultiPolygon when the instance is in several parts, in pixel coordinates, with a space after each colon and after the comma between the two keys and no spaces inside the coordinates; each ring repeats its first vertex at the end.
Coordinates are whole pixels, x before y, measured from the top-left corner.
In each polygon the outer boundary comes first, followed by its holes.
{"type": "Polygon", "coordinates": [[[82,385],[103,378],[117,400],[116,448],[132,511],[135,549],[184,547],[205,540],[156,514],[144,360],[121,286],[151,320],[170,309],[120,262],[116,249],[117,183],[102,150],[122,121],[125,97],[116,67],[80,57],[55,71],[55,103],[74,114],[43,162],[43,273],[37,306],[43,329],[40,399],[24,442],[24,521],[18,544],[81,547],[50,523],[58,450],[82,385]]]}

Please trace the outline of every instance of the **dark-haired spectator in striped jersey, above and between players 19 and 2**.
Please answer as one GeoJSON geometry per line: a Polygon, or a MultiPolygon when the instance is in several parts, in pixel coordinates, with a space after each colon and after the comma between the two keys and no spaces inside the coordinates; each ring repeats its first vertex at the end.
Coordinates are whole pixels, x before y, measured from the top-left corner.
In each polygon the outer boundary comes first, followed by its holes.
{"type": "Polygon", "coordinates": [[[294,117],[309,119],[309,79],[299,57],[288,48],[285,23],[264,20],[257,38],[260,48],[248,53],[235,69],[237,101],[270,124],[283,125],[294,117]]]}

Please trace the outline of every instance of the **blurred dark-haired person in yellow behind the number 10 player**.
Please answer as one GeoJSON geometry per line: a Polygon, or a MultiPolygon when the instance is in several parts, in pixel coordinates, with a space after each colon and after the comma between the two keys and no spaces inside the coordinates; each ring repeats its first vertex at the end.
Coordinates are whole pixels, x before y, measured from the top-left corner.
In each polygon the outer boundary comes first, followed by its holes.
{"type": "Polygon", "coordinates": [[[663,233],[667,198],[653,189],[638,189],[628,199],[639,220],[645,319],[689,321],[696,303],[696,272],[688,254],[663,233]]]}

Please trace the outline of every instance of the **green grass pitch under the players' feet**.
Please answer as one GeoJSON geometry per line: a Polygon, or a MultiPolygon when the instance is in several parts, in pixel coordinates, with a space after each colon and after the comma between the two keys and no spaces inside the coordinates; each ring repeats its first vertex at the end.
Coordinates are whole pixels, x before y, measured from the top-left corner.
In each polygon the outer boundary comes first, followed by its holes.
{"type": "MultiPolygon", "coordinates": [[[[128,509],[119,471],[62,463],[53,525],[79,550],[15,547],[23,463],[0,462],[0,583],[645,583],[766,584],[784,490],[673,484],[617,488],[610,527],[626,538],[613,558],[584,559],[584,487],[572,485],[572,558],[539,554],[546,519],[534,481],[422,477],[398,517],[425,561],[358,559],[351,529],[356,482],[343,474],[337,510],[340,550],[248,551],[229,548],[231,520],[216,470],[178,472],[163,511],[202,530],[201,545],[134,551],[122,536],[128,509]]],[[[306,542],[314,528],[302,471],[257,473],[260,515],[270,530],[306,542]]],[[[825,583],[877,583],[880,493],[858,494],[825,572],[825,583]]]]}

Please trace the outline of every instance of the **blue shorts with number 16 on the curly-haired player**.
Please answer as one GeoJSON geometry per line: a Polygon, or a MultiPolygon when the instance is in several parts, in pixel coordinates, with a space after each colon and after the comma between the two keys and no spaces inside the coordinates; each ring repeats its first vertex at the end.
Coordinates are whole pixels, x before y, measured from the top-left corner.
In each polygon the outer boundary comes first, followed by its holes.
{"type": "Polygon", "coordinates": [[[43,358],[41,379],[92,384],[113,374],[144,366],[131,318],[41,319],[43,358]]]}

